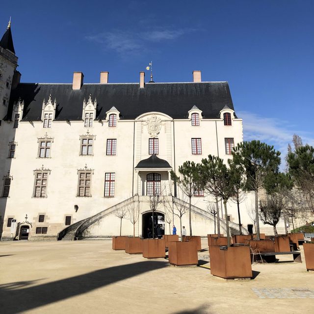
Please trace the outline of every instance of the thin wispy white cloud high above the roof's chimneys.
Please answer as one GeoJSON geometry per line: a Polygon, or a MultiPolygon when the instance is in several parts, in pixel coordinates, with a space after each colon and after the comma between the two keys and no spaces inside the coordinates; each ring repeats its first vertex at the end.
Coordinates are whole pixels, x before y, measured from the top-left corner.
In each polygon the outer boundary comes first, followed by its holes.
{"type": "Polygon", "coordinates": [[[170,29],[157,27],[151,31],[131,32],[113,30],[85,36],[85,39],[100,44],[105,50],[112,50],[125,56],[143,52],[149,43],[175,40],[194,29],[170,29]]]}

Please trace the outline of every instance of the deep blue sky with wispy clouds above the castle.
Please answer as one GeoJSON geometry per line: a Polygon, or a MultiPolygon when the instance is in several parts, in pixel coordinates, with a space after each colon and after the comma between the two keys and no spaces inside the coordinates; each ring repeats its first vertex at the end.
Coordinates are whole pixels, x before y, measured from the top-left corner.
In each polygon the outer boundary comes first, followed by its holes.
{"type": "Polygon", "coordinates": [[[22,82],[225,81],[244,140],[314,145],[313,0],[3,1],[22,82]],[[149,72],[146,73],[149,80],[149,72]]]}

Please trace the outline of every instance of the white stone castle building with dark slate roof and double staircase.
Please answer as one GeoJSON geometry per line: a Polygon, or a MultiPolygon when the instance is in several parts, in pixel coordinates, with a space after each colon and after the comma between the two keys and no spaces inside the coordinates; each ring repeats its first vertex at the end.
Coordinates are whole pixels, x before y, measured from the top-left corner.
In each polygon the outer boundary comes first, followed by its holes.
{"type": "MultiPolygon", "coordinates": [[[[9,24],[0,41],[2,240],[118,235],[116,213],[134,203],[136,235],[146,236],[148,195],[162,190],[170,205],[178,201],[171,170],[209,154],[227,161],[243,140],[228,82],[202,81],[201,71],[191,82],[145,82],[140,72],[137,83],[110,83],[101,72],[99,83],[87,84],[75,72],[72,83],[22,83],[17,60],[9,24]]],[[[195,235],[214,232],[206,200],[195,191],[195,235]]],[[[241,205],[244,232],[253,226],[251,202],[241,205]]],[[[236,230],[236,205],[228,210],[236,230]]],[[[158,205],[154,224],[169,233],[179,220],[166,211],[158,205]]],[[[122,224],[122,234],[132,235],[131,222],[122,224]]]]}

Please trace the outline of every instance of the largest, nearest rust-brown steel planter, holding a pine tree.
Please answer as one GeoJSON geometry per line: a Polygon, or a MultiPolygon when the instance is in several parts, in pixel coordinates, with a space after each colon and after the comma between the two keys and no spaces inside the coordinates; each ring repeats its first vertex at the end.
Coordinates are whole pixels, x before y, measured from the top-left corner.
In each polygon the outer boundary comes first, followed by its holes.
{"type": "Polygon", "coordinates": [[[248,246],[230,246],[221,250],[220,246],[210,247],[210,273],[225,279],[251,278],[252,266],[248,246]]]}

